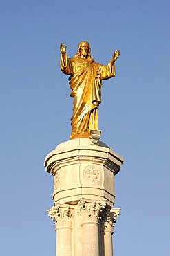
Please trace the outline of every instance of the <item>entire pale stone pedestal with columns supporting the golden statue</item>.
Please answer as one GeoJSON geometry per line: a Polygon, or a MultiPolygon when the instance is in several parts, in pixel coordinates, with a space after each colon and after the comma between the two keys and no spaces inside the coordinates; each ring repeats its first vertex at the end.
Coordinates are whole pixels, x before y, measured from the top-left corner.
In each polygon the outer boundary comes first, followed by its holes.
{"type": "Polygon", "coordinates": [[[113,224],[120,213],[114,205],[114,176],[123,158],[88,138],[61,143],[45,158],[54,175],[53,207],[56,256],[112,256],[113,224]]]}

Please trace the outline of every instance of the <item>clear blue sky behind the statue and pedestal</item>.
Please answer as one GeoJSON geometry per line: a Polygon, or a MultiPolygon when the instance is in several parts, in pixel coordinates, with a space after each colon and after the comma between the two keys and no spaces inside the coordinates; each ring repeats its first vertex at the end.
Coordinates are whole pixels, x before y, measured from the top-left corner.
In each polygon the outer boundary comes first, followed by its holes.
{"type": "Polygon", "coordinates": [[[125,159],[114,255],[170,255],[170,2],[1,0],[0,13],[0,255],[55,255],[43,161],[71,131],[59,44],[72,57],[82,40],[102,64],[120,49],[99,107],[101,140],[125,159]]]}

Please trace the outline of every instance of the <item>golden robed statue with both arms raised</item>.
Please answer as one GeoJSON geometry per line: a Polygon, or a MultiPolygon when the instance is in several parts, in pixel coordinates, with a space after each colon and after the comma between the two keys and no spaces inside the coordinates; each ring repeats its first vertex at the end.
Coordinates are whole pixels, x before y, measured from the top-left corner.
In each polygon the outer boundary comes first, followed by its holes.
{"type": "Polygon", "coordinates": [[[96,63],[90,55],[87,41],[78,44],[74,57],[67,57],[67,46],[60,45],[60,66],[63,73],[70,75],[69,84],[72,92],[73,114],[71,118],[72,138],[89,138],[91,130],[98,130],[98,105],[101,103],[101,80],[115,76],[114,62],[120,55],[116,50],[107,66],[96,63]]]}

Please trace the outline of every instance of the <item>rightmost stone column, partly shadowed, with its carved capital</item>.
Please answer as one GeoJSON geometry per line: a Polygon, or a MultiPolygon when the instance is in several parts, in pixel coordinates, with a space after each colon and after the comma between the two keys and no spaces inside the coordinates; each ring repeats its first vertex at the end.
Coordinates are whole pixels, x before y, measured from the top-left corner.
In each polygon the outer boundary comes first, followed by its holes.
{"type": "Polygon", "coordinates": [[[101,214],[100,241],[101,256],[113,256],[114,223],[120,214],[120,208],[106,208],[101,214]]]}

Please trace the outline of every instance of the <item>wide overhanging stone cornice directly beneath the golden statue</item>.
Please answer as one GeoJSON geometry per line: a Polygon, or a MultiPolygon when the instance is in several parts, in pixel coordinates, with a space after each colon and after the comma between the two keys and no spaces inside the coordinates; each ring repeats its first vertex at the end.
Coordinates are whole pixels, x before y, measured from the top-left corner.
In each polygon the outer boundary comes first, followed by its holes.
{"type": "Polygon", "coordinates": [[[59,144],[55,150],[47,154],[44,165],[47,172],[55,175],[61,167],[89,161],[104,165],[116,175],[122,166],[123,157],[101,141],[98,145],[92,145],[90,139],[77,138],[59,144]]]}

